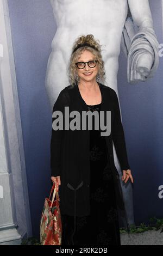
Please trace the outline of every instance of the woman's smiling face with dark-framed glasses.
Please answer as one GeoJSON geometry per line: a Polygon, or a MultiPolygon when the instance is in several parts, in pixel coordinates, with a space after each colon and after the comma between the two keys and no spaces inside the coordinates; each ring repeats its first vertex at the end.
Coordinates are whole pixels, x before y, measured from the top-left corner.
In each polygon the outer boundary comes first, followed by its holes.
{"type": "MultiPolygon", "coordinates": [[[[89,62],[90,60],[96,60],[96,57],[90,52],[85,50],[79,57],[77,62],[89,62]]],[[[98,62],[95,68],[90,68],[90,66],[86,63],[84,69],[78,69],[79,82],[94,82],[96,81],[96,76],[98,74],[99,66],[98,62]]]]}

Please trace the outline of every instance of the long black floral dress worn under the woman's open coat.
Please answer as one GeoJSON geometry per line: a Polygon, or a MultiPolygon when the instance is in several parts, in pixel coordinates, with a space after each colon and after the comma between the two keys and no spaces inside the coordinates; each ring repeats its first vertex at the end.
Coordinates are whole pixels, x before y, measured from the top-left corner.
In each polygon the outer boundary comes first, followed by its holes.
{"type": "MultiPolygon", "coordinates": [[[[88,111],[100,111],[101,104],[87,105],[88,111]]],[[[93,118],[94,124],[94,118],[93,118]]],[[[121,245],[114,181],[108,163],[105,137],[95,126],[90,130],[90,216],[76,217],[74,245],[121,245]]],[[[62,245],[71,245],[73,216],[62,217],[62,245]]]]}

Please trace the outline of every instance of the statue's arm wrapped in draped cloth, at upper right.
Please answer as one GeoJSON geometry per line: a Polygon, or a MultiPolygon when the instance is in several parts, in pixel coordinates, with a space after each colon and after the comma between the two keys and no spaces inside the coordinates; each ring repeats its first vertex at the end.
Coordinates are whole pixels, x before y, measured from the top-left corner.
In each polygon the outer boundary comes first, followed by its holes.
{"type": "Polygon", "coordinates": [[[148,0],[128,0],[128,5],[138,27],[128,52],[128,82],[146,81],[153,77],[159,64],[151,9],[148,0]]]}

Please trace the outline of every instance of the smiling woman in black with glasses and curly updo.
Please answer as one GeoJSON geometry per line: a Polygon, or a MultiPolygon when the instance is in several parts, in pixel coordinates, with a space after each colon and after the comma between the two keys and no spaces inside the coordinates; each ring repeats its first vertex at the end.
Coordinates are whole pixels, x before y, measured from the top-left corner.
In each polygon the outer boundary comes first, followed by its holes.
{"type": "Polygon", "coordinates": [[[61,111],[65,118],[65,107],[70,113],[78,111],[80,117],[83,111],[111,111],[111,132],[102,136],[100,123],[96,130],[93,118],[92,130],[52,129],[51,179],[60,185],[62,245],[120,245],[118,214],[126,217],[126,211],[112,141],[122,180],[133,182],[133,176],[117,95],[99,82],[104,81],[104,63],[93,35],[82,35],[74,42],[69,70],[71,85],[60,92],[53,112],[61,111]]]}

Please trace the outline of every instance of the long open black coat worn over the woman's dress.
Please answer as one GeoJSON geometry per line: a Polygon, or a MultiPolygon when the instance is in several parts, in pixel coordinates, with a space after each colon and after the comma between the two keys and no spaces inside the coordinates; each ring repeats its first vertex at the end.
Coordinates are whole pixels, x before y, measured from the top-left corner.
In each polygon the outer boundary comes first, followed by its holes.
{"type": "MultiPolygon", "coordinates": [[[[101,83],[98,84],[102,94],[101,111],[111,111],[111,133],[109,136],[105,136],[105,139],[108,146],[110,167],[114,174],[117,207],[122,217],[126,218],[120,177],[115,167],[112,147],[113,141],[118,160],[120,161],[121,170],[130,169],[127,159],[124,131],[121,123],[120,107],[115,90],[101,83]]],[[[78,111],[81,116],[82,111],[87,111],[87,105],[79,92],[78,84],[73,88],[67,86],[61,90],[57,101],[54,103],[53,112],[61,111],[64,116],[65,106],[69,107],[69,112],[78,111]]],[[[52,122],[55,119],[56,118],[52,118],[52,122]]],[[[52,129],[51,175],[60,176],[61,179],[59,197],[62,214],[70,216],[87,216],[90,214],[89,143],[88,129],[74,131],[54,131],[52,129]]]]}

